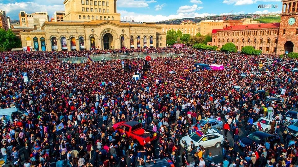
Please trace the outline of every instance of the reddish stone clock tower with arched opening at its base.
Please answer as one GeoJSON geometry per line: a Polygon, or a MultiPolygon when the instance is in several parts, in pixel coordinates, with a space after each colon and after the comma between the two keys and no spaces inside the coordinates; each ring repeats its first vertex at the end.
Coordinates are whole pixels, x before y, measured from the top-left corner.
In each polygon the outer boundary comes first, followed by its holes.
{"type": "Polygon", "coordinates": [[[282,0],[277,54],[298,52],[298,0],[282,0]]]}

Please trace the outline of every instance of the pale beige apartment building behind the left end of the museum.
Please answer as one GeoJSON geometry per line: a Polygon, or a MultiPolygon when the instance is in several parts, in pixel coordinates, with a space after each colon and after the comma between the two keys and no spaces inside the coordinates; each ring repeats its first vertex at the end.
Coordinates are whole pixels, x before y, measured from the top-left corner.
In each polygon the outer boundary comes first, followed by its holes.
{"type": "Polygon", "coordinates": [[[47,12],[35,12],[32,14],[27,14],[25,11],[20,11],[19,13],[20,26],[41,29],[44,22],[49,21],[49,16],[47,12]]]}

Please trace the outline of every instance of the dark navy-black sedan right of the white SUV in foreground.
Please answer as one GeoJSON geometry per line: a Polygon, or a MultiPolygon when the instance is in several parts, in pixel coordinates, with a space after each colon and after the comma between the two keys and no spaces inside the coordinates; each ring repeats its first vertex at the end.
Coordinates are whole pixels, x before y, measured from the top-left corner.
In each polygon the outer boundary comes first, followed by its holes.
{"type": "Polygon", "coordinates": [[[243,137],[239,140],[241,147],[246,147],[252,144],[255,141],[255,144],[264,144],[267,140],[274,143],[280,142],[280,137],[277,134],[270,134],[264,131],[257,131],[249,134],[246,137],[243,137]]]}

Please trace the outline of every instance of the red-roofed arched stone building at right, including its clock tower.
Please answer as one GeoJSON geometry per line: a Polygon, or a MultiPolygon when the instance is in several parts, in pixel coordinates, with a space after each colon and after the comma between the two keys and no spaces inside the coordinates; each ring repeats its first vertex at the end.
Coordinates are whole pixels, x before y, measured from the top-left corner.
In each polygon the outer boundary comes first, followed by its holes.
{"type": "Polygon", "coordinates": [[[278,55],[298,52],[298,1],[282,0],[280,23],[247,24],[214,29],[212,46],[222,47],[233,42],[238,51],[243,46],[253,46],[263,53],[278,55]]]}

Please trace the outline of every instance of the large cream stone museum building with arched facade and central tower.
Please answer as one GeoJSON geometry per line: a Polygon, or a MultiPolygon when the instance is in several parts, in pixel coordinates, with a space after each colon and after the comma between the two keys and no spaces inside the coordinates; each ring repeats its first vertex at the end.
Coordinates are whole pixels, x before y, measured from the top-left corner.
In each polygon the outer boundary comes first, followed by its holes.
{"type": "Polygon", "coordinates": [[[44,22],[21,32],[24,51],[70,51],[165,47],[166,33],[155,23],[121,22],[116,0],[65,0],[63,21],[44,22]]]}

